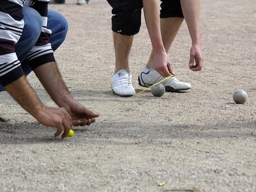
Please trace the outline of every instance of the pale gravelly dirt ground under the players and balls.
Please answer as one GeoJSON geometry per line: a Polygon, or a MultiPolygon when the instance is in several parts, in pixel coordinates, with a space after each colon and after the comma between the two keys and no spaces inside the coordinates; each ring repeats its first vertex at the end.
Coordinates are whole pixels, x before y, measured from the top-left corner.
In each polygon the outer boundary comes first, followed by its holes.
{"type": "MultiPolygon", "coordinates": [[[[256,191],[256,1],[201,2],[204,67],[188,69],[185,22],[169,53],[183,93],[127,99],[113,95],[111,8],[105,0],[50,5],[69,22],[56,51],[74,97],[100,113],[96,123],[54,138],[6,93],[0,124],[1,191],[256,191]],[[233,102],[243,89],[248,101],[233,102]],[[159,186],[161,182],[165,185],[159,186]]],[[[135,36],[130,69],[138,75],[151,50],[145,22],[135,36]]],[[[29,82],[47,106],[56,106],[36,80],[29,82]]]]}

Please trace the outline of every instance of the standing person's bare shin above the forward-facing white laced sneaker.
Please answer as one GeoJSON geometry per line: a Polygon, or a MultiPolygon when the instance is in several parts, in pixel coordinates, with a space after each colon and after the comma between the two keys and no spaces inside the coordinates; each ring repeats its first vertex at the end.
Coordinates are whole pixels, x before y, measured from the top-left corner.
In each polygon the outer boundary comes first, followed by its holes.
{"type": "Polygon", "coordinates": [[[129,54],[132,48],[133,36],[121,35],[113,32],[115,48],[115,73],[120,69],[129,69],[129,54]]]}

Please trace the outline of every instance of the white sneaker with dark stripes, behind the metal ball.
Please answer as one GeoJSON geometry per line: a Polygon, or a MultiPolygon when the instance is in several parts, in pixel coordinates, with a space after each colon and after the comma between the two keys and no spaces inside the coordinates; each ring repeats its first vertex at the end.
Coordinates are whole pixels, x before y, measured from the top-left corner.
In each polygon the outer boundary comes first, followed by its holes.
{"type": "MultiPolygon", "coordinates": [[[[139,85],[142,87],[150,87],[163,79],[164,78],[161,77],[159,72],[155,69],[148,69],[147,66],[144,66],[144,68],[141,69],[141,74],[139,74],[138,77],[139,85]]],[[[177,80],[176,77],[170,77],[161,84],[164,85],[166,92],[178,92],[191,88],[191,84],[181,82],[177,80]]]]}

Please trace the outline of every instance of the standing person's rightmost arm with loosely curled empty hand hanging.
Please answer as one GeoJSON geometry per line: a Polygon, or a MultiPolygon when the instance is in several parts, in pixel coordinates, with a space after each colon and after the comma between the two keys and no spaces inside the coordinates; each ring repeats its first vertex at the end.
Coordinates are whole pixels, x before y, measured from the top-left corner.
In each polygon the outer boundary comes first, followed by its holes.
{"type": "Polygon", "coordinates": [[[181,0],[181,7],[192,40],[189,68],[192,71],[200,71],[203,66],[199,20],[200,1],[181,0]]]}

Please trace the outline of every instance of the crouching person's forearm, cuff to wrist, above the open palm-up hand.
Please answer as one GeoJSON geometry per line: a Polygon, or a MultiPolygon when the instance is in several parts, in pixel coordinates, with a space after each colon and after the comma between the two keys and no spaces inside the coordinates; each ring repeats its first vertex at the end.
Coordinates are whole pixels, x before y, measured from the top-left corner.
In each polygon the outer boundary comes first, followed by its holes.
{"type": "Polygon", "coordinates": [[[73,97],[62,80],[56,62],[46,63],[34,70],[39,81],[58,106],[66,108],[73,97]]]}

